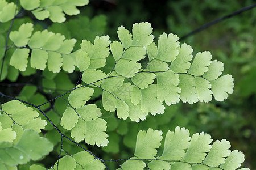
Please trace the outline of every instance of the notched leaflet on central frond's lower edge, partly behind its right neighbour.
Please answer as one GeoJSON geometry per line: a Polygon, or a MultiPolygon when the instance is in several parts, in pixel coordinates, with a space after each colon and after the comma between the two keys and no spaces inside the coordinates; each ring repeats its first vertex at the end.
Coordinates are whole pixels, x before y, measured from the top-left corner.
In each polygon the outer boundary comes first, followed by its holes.
{"type": "Polygon", "coordinates": [[[163,114],[163,103],[158,101],[156,96],[156,84],[151,84],[148,88],[141,90],[141,110],[143,113],[163,114]]]}

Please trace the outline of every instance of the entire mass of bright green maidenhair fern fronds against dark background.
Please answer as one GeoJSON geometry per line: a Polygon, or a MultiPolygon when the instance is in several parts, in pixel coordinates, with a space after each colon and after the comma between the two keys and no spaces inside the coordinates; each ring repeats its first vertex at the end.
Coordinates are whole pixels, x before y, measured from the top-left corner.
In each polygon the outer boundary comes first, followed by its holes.
{"type": "MultiPolygon", "coordinates": [[[[148,22],[135,23],[131,33],[120,26],[119,41],[110,41],[109,36],[96,36],[94,42],[84,39],[76,50],[77,40],[56,33],[54,25],[49,28],[53,32],[39,29],[31,22],[19,24],[13,30],[20,8],[30,11],[38,20],[49,18],[62,23],[65,14],[79,14],[76,7],[89,1],[17,2],[0,0],[0,22],[9,24],[5,25],[9,31],[0,35],[3,40],[1,80],[7,78],[14,82],[19,74],[28,76],[40,70],[43,86],[47,87],[44,92],[56,88],[55,81],[60,77],[64,78],[61,87],[65,92],[49,101],[31,85],[24,86],[16,97],[0,92],[1,96],[13,99],[1,104],[0,169],[17,169],[20,164],[43,159],[57,145],[48,139],[49,135],[55,135],[52,131],[60,134],[61,147],[59,158],[50,169],[108,169],[106,162],[123,160],[126,161],[120,169],[237,169],[241,166],[244,155],[237,150],[231,152],[230,143],[225,139],[210,145],[209,134],[202,132],[190,137],[189,131],[179,126],[167,132],[163,152],[158,152],[162,131],[139,131],[134,156],[122,160],[98,158],[80,145],[82,141],[98,147],[108,145],[104,110],[115,112],[119,119],[140,122],[149,117],[149,113],[164,114],[164,105],[180,101],[209,102],[213,97],[223,101],[233,92],[232,75],[222,75],[223,63],[212,61],[210,52],[193,56],[191,46],[180,44],[177,35],[162,33],[155,43],[148,22]],[[108,58],[113,58],[115,63],[106,72],[108,58]],[[70,87],[73,85],[65,77],[73,72],[80,73],[81,77],[75,87],[70,87]],[[90,102],[95,96],[101,97],[103,109],[90,102]],[[39,98],[40,103],[32,104],[39,98]],[[61,114],[55,114],[55,109],[59,109],[56,99],[63,99],[66,104],[60,109],[61,114]],[[50,103],[54,107],[48,109],[50,103]],[[42,130],[45,133],[41,133],[42,130]],[[83,151],[72,155],[66,152],[61,157],[63,138],[83,151]]],[[[30,169],[46,168],[32,164],[30,169]]]]}

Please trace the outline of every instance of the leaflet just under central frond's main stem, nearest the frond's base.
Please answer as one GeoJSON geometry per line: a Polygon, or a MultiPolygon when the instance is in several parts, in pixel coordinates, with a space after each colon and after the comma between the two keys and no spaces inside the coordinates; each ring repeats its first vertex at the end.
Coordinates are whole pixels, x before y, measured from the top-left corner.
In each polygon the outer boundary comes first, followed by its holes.
{"type": "Polygon", "coordinates": [[[119,75],[115,71],[112,71],[109,78],[102,80],[101,87],[107,91],[114,91],[123,85],[124,80],[125,78],[123,76],[119,75]]]}

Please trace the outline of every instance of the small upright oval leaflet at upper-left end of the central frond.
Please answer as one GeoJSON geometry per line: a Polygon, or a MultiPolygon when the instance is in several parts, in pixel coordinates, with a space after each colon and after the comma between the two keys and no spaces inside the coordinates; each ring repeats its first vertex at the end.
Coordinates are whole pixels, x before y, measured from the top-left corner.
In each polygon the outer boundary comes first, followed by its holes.
{"type": "Polygon", "coordinates": [[[77,67],[79,67],[80,72],[88,69],[90,65],[90,57],[88,57],[88,53],[84,51],[76,53],[76,63],[77,67]]]}

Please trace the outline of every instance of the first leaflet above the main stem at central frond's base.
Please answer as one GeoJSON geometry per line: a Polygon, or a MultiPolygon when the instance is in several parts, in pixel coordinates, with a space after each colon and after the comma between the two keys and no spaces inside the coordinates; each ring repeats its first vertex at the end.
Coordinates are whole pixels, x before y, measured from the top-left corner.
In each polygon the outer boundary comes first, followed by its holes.
{"type": "Polygon", "coordinates": [[[82,74],[82,81],[87,84],[96,84],[99,86],[101,84],[101,79],[104,79],[106,74],[101,70],[87,69],[82,74]]]}

